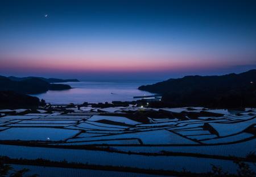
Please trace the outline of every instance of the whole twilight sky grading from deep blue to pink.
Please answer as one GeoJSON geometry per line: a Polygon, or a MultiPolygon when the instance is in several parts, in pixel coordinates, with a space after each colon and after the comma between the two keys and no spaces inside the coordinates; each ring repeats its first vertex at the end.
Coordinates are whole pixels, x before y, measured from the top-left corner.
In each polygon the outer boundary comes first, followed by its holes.
{"type": "Polygon", "coordinates": [[[162,80],[255,68],[256,1],[0,1],[0,75],[162,80]]]}

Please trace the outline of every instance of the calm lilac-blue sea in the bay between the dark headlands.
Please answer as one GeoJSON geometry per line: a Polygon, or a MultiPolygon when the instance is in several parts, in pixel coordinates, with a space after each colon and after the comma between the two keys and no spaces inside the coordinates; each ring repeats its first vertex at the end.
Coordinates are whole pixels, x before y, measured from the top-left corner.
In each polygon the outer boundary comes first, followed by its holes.
{"type": "Polygon", "coordinates": [[[158,81],[118,81],[118,82],[66,82],[73,87],[70,90],[47,91],[43,94],[34,94],[51,104],[82,104],[105,103],[112,101],[132,101],[133,96],[152,95],[150,92],[137,88],[141,85],[156,83],[158,81]]]}

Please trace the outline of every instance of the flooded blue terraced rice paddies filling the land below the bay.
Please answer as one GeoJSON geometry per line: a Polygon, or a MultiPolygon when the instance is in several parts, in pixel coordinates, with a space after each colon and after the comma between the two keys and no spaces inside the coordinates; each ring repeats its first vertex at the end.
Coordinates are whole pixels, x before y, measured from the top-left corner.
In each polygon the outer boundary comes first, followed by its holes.
{"type": "MultiPolygon", "coordinates": [[[[256,150],[256,116],[252,109],[241,114],[208,110],[216,112],[216,116],[183,116],[186,120],[154,116],[148,117],[147,123],[130,118],[127,110],[180,114],[190,110],[118,107],[102,108],[98,113],[93,109],[83,107],[84,111],[65,114],[41,110],[42,113],[2,116],[0,155],[153,170],[186,168],[191,172],[208,172],[213,164],[236,172],[230,156],[246,158],[256,150]],[[115,112],[121,112],[122,116],[120,113],[115,116],[115,112]]],[[[203,109],[195,108],[197,113],[204,112],[203,109]]],[[[256,171],[256,166],[248,163],[256,171]]]]}

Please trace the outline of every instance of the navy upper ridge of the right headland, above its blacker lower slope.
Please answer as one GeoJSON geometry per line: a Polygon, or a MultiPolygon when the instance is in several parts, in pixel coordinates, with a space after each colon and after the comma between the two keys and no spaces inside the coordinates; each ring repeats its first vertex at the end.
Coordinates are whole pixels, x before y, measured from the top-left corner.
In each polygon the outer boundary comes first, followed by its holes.
{"type": "Polygon", "coordinates": [[[194,89],[231,89],[243,87],[256,81],[256,70],[240,74],[226,74],[213,76],[189,75],[178,79],[168,79],[152,85],[140,86],[139,90],[165,94],[166,92],[183,92],[194,89]]]}

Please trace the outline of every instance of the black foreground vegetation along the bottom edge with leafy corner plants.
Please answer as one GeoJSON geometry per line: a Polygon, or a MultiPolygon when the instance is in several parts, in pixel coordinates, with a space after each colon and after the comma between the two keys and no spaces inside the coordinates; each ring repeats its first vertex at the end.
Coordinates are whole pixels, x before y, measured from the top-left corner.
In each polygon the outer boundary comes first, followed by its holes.
{"type": "MultiPolygon", "coordinates": [[[[10,165],[7,164],[15,164],[15,165],[36,165],[36,166],[47,166],[47,167],[61,167],[61,168],[80,168],[80,169],[90,169],[90,170],[106,170],[106,171],[120,171],[120,172],[135,172],[141,174],[155,174],[155,175],[166,175],[166,176],[223,176],[223,177],[234,177],[234,176],[247,176],[253,177],[255,176],[255,172],[253,172],[250,166],[247,163],[234,161],[237,164],[237,174],[229,174],[222,170],[221,167],[213,166],[212,171],[207,173],[195,173],[184,170],[183,171],[173,171],[173,170],[153,170],[153,169],[143,169],[143,168],[133,168],[133,167],[123,167],[123,166],[103,166],[103,165],[90,165],[88,163],[68,163],[67,161],[55,162],[48,161],[46,159],[11,159],[9,157],[1,157],[0,158],[0,175],[8,176],[9,171],[13,170],[10,165]]],[[[28,169],[24,168],[20,171],[14,171],[12,176],[24,176],[24,173],[27,172],[28,169]]],[[[37,176],[37,175],[32,175],[37,176]]]]}

